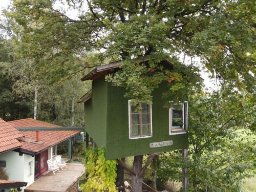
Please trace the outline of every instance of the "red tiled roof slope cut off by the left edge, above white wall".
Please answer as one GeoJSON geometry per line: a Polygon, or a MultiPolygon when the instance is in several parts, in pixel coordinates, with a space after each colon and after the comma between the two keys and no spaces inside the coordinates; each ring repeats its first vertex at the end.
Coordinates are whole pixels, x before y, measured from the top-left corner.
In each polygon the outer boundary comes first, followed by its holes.
{"type": "Polygon", "coordinates": [[[17,138],[24,137],[22,132],[17,131],[9,123],[0,118],[0,153],[14,150],[22,145],[17,138]]]}

